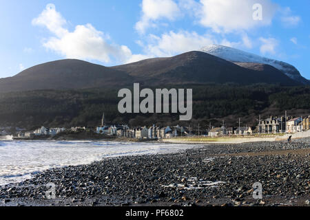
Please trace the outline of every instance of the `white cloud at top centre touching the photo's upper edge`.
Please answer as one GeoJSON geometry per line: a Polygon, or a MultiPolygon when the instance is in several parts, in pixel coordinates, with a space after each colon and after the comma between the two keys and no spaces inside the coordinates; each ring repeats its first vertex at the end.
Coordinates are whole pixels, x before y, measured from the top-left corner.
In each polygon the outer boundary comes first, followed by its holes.
{"type": "Polygon", "coordinates": [[[143,0],[141,7],[142,17],[135,26],[140,33],[145,33],[149,27],[156,27],[154,21],[159,19],[174,21],[180,16],[180,8],[173,0],[143,0]]]}

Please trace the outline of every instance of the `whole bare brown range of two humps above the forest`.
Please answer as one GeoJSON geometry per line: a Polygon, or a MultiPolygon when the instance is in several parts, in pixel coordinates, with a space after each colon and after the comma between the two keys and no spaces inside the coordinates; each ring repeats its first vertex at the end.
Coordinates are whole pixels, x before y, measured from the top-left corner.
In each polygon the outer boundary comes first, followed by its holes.
{"type": "Polygon", "coordinates": [[[133,83],[147,87],[189,83],[300,85],[270,65],[260,65],[260,68],[242,67],[240,63],[237,65],[205,52],[187,52],[116,67],[103,67],[72,59],[43,63],[25,69],[16,76],[1,78],[0,92],[119,88],[133,83]]]}

